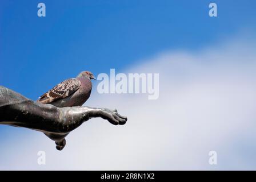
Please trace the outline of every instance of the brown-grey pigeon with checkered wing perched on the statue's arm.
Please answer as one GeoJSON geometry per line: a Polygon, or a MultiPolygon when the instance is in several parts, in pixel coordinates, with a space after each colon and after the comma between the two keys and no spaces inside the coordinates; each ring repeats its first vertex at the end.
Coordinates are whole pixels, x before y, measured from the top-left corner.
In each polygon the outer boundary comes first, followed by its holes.
{"type": "Polygon", "coordinates": [[[91,94],[93,73],[83,71],[76,78],[69,78],[43,94],[37,102],[56,107],[82,106],[91,94]]]}

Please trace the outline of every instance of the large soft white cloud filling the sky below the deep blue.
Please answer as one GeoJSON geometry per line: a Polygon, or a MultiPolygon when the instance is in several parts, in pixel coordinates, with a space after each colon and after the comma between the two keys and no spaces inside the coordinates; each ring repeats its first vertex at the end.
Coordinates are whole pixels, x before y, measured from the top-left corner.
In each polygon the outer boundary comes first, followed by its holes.
{"type": "Polygon", "coordinates": [[[126,125],[91,119],[70,133],[63,151],[31,132],[10,148],[0,144],[0,169],[256,169],[255,43],[235,39],[145,60],[125,72],[159,73],[158,100],[93,93],[86,104],[117,108],[126,125]],[[39,150],[46,166],[37,164],[39,150]],[[208,163],[211,150],[217,166],[208,163]]]}

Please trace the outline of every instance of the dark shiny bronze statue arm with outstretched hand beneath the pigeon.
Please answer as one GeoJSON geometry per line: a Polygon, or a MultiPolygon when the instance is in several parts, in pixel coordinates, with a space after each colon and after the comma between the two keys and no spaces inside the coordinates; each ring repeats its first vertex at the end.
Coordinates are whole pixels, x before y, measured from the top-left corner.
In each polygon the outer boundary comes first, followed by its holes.
{"type": "Polygon", "coordinates": [[[113,125],[124,125],[127,121],[117,110],[39,104],[0,86],[0,124],[42,131],[55,141],[58,150],[65,146],[70,131],[95,117],[107,119],[113,125]]]}

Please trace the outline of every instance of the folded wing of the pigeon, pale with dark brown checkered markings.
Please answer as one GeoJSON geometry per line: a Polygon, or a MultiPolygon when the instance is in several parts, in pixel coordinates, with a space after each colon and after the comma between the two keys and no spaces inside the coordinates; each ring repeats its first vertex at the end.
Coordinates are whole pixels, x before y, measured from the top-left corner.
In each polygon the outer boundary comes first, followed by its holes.
{"type": "Polygon", "coordinates": [[[76,78],[70,78],[68,80],[62,81],[60,84],[54,86],[54,88],[39,97],[37,102],[48,104],[55,100],[65,98],[77,91],[80,85],[81,82],[76,78]]]}

